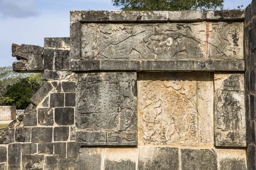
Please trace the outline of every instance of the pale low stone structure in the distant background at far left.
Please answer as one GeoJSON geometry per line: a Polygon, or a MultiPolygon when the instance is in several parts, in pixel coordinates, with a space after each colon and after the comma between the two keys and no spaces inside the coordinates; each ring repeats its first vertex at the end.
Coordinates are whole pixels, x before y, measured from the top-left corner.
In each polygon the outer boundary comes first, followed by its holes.
{"type": "Polygon", "coordinates": [[[0,120],[16,119],[16,106],[0,106],[0,120]]]}

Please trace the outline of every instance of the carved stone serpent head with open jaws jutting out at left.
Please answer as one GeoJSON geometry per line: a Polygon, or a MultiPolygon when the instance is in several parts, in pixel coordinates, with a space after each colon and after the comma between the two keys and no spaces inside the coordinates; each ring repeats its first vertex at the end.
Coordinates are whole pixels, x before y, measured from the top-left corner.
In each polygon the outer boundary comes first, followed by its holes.
{"type": "Polygon", "coordinates": [[[37,45],[12,44],[12,57],[20,62],[12,64],[17,72],[42,72],[44,71],[44,48],[37,45]]]}

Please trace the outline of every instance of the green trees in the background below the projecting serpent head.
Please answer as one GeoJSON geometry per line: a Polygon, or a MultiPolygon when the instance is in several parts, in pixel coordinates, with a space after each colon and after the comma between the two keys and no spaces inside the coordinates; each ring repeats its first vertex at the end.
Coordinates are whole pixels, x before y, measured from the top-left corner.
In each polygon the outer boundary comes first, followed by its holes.
{"type": "Polygon", "coordinates": [[[43,83],[41,74],[16,73],[11,66],[0,67],[0,105],[25,109],[43,83]]]}

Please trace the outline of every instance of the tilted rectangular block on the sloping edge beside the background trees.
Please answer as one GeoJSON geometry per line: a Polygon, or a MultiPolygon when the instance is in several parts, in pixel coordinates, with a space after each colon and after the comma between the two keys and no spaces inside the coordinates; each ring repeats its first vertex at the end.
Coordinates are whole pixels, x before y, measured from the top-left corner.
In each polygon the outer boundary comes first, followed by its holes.
{"type": "Polygon", "coordinates": [[[52,90],[52,85],[50,82],[46,82],[32,97],[31,102],[38,105],[39,102],[44,99],[45,96],[52,90]]]}

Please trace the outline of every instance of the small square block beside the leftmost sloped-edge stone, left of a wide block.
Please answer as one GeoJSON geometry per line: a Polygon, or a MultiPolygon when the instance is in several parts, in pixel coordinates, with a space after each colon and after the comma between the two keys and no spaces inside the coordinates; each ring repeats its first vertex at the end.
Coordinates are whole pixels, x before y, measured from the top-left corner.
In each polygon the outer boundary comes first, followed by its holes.
{"type": "Polygon", "coordinates": [[[15,142],[30,142],[31,127],[16,127],[15,142]]]}

